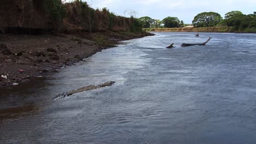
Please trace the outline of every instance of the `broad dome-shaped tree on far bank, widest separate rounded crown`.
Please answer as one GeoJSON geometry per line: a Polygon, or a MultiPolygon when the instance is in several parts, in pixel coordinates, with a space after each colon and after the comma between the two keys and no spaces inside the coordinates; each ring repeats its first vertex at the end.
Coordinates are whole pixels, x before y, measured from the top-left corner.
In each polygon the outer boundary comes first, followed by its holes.
{"type": "Polygon", "coordinates": [[[211,11],[197,14],[192,22],[194,27],[215,27],[220,21],[222,16],[211,11]]]}

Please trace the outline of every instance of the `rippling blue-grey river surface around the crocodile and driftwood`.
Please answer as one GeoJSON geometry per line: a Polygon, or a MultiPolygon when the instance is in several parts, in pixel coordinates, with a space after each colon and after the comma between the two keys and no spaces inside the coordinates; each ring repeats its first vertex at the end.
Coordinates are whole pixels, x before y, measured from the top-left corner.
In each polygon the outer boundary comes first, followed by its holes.
{"type": "Polygon", "coordinates": [[[0,89],[0,143],[254,144],[256,34],[155,34],[0,89]]]}

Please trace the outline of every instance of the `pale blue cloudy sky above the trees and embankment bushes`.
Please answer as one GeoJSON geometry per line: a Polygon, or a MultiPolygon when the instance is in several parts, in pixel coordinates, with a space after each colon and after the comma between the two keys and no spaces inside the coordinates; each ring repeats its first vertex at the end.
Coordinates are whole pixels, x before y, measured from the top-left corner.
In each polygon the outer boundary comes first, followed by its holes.
{"type": "Polygon", "coordinates": [[[149,16],[152,19],[162,20],[165,17],[178,17],[184,23],[192,23],[194,17],[202,12],[213,11],[222,17],[232,10],[239,10],[243,14],[253,14],[256,11],[256,0],[88,0],[94,9],[108,8],[116,15],[130,17],[149,16]]]}

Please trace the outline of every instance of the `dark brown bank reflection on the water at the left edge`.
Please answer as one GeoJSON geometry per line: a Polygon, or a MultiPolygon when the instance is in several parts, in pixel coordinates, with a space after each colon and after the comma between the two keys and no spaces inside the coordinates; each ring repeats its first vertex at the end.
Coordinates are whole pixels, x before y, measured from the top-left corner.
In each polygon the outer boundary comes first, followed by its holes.
{"type": "Polygon", "coordinates": [[[44,79],[32,80],[20,86],[0,88],[0,126],[4,122],[37,115],[48,105],[48,98],[40,97],[47,93],[49,83],[44,79]]]}

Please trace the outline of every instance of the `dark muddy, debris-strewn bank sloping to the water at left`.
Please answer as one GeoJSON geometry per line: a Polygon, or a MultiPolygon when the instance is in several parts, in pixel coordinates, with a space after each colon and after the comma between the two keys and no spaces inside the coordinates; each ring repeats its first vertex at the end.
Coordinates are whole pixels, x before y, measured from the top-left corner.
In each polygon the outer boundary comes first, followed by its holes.
{"type": "Polygon", "coordinates": [[[75,35],[0,35],[0,87],[19,85],[83,61],[120,40],[150,33],[98,32],[75,35]]]}

